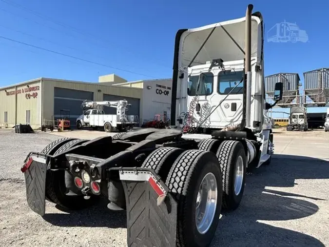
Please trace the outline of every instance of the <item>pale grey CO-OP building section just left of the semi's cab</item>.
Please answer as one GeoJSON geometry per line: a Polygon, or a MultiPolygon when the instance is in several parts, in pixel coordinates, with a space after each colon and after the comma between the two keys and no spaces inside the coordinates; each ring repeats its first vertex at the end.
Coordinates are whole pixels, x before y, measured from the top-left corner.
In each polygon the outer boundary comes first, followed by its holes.
{"type": "Polygon", "coordinates": [[[145,123],[153,120],[156,114],[164,116],[165,119],[170,119],[172,81],[172,79],[143,80],[113,85],[143,90],[140,122],[145,123]]]}

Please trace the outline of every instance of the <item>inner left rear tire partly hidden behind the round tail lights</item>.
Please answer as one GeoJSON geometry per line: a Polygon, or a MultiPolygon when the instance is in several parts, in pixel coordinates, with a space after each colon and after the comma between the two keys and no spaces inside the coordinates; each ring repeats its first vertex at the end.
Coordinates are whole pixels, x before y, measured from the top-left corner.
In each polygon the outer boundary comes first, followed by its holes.
{"type": "MultiPolygon", "coordinates": [[[[71,140],[70,142],[67,142],[66,144],[62,145],[54,153],[54,155],[57,155],[61,152],[64,152],[76,145],[82,144],[87,141],[88,140],[81,140],[81,139],[71,140]]],[[[69,190],[66,188],[66,183],[65,183],[66,179],[72,179],[68,171],[63,171],[63,170],[47,171],[46,193],[48,194],[51,202],[72,210],[86,208],[88,206],[92,206],[96,202],[95,200],[96,197],[93,196],[91,196],[89,200],[85,200],[82,195],[77,195],[77,196],[66,195],[66,193],[69,192],[69,190]]],[[[71,183],[74,182],[72,181],[71,183]]]]}

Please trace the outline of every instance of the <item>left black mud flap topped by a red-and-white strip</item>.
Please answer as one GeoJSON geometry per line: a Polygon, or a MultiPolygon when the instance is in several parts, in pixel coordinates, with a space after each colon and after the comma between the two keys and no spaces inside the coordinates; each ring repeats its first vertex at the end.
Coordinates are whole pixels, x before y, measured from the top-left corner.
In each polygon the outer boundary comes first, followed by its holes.
{"type": "Polygon", "coordinates": [[[45,213],[46,156],[31,153],[21,167],[25,177],[26,199],[28,206],[43,216],[45,213]]]}

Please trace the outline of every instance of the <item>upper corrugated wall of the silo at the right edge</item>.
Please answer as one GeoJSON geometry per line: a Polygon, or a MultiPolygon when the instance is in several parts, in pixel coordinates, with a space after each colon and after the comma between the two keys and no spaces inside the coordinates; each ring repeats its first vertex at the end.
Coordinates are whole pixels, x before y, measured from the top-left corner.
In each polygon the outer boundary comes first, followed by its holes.
{"type": "Polygon", "coordinates": [[[329,68],[304,73],[304,88],[329,88],[329,68]]]}

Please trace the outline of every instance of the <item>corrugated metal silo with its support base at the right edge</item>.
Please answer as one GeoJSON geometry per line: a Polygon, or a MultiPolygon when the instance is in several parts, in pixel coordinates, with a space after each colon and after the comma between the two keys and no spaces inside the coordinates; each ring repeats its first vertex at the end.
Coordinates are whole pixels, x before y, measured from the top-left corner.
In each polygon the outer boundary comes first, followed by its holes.
{"type": "Polygon", "coordinates": [[[304,95],[306,105],[324,106],[329,103],[329,68],[304,72],[304,95]]]}

